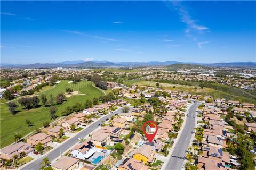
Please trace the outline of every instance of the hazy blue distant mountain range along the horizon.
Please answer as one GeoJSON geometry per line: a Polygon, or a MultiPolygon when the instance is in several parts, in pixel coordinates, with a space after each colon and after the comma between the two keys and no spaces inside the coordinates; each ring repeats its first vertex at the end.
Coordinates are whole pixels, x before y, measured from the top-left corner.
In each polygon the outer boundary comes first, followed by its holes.
{"type": "MultiPolygon", "coordinates": [[[[109,62],[109,61],[63,61],[60,63],[35,63],[35,64],[8,64],[1,63],[2,68],[26,68],[26,69],[39,69],[39,68],[97,68],[97,67],[142,67],[142,66],[156,66],[165,67],[172,64],[190,64],[190,65],[201,65],[201,66],[213,66],[213,67],[247,67],[255,68],[256,62],[232,62],[232,63],[213,63],[213,64],[202,64],[202,63],[190,63],[190,62],[179,62],[179,61],[150,61],[150,62],[109,62]]],[[[179,65],[178,65],[179,66],[179,65]]],[[[181,66],[181,65],[180,65],[181,66]]],[[[181,67],[184,67],[181,66],[181,67]]]]}

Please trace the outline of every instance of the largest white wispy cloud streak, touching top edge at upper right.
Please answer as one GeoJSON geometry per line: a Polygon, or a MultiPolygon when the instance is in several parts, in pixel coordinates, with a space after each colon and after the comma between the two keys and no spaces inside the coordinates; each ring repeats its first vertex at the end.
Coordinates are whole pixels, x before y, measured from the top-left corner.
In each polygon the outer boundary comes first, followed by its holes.
{"type": "Polygon", "coordinates": [[[186,23],[188,29],[185,30],[185,33],[188,33],[191,30],[203,31],[209,29],[204,25],[199,25],[197,20],[192,19],[188,10],[185,6],[182,5],[180,1],[166,1],[165,3],[168,7],[172,9],[174,8],[174,10],[179,13],[181,22],[186,23]]]}

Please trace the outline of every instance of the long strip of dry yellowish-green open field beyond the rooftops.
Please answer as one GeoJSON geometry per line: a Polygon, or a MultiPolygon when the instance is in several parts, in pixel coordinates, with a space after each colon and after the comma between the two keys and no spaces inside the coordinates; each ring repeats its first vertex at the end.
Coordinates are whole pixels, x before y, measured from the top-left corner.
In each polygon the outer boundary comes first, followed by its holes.
{"type": "MultiPolygon", "coordinates": [[[[143,85],[143,86],[151,86],[156,87],[156,81],[145,81],[145,80],[131,80],[131,81],[125,81],[124,84],[126,86],[132,86],[133,84],[137,85],[143,85]]],[[[183,92],[190,92],[190,93],[207,93],[214,91],[211,88],[203,88],[197,86],[197,89],[195,89],[195,86],[187,86],[187,85],[180,85],[180,84],[171,84],[171,83],[159,83],[159,87],[163,87],[163,89],[169,89],[169,90],[177,90],[177,91],[183,91],[183,92]]]]}

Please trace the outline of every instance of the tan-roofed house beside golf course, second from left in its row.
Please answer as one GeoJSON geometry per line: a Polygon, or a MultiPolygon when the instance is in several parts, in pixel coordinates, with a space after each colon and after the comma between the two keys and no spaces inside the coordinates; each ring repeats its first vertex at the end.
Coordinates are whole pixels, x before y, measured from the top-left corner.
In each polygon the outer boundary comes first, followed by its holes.
{"type": "Polygon", "coordinates": [[[45,133],[37,133],[27,139],[27,143],[29,145],[37,145],[38,143],[42,143],[43,146],[49,145],[49,143],[52,142],[52,138],[50,135],[47,135],[45,133]]]}

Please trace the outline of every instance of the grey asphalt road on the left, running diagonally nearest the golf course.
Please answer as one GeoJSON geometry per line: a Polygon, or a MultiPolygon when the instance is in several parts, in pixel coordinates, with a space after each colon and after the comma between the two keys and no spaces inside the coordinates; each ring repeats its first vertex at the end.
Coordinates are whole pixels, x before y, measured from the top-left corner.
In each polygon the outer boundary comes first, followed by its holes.
{"type": "Polygon", "coordinates": [[[52,162],[54,159],[60,157],[60,155],[65,154],[66,150],[68,150],[70,147],[73,147],[77,143],[77,138],[84,138],[86,135],[90,134],[92,131],[98,128],[98,125],[102,122],[105,121],[106,118],[110,118],[111,116],[115,115],[116,113],[121,113],[122,108],[117,109],[115,112],[110,113],[106,115],[105,117],[99,118],[97,121],[93,122],[90,126],[87,126],[85,129],[83,129],[81,132],[78,134],[74,135],[74,137],[70,137],[69,140],[66,142],[62,143],[60,146],[53,148],[52,151],[48,152],[46,155],[43,157],[36,159],[34,162],[28,163],[27,165],[21,167],[20,169],[25,169],[25,170],[37,170],[42,167],[40,163],[45,157],[48,157],[50,162],[52,162]]]}

